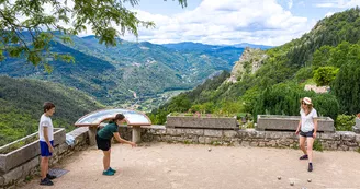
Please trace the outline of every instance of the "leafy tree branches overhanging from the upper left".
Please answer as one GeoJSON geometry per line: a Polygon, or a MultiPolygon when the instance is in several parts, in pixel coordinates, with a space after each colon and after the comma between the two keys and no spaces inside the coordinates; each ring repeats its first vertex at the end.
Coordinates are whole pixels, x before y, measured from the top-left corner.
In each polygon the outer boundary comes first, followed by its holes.
{"type": "MultiPolygon", "coordinates": [[[[165,0],[166,1],[166,0],[165,0]]],[[[182,7],[187,0],[178,0],[182,7]]],[[[60,34],[64,43],[71,43],[71,35],[78,35],[88,27],[100,44],[116,46],[117,38],[128,32],[136,37],[138,27],[153,27],[153,22],[140,21],[136,12],[124,4],[137,5],[139,0],[0,0],[0,61],[5,56],[22,57],[34,66],[46,57],[74,61],[70,55],[50,51],[53,38],[60,34]],[[52,13],[46,13],[52,10],[52,13]],[[71,25],[70,25],[71,24],[71,25]],[[69,26],[64,26],[69,25],[69,26]],[[120,31],[115,28],[120,26],[120,31]]]]}

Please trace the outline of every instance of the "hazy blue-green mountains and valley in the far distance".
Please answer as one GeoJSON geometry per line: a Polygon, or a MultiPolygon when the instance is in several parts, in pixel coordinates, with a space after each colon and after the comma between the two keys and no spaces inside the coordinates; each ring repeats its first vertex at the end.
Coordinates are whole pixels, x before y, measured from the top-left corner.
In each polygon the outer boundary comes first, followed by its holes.
{"type": "Polygon", "coordinates": [[[0,62],[0,74],[58,82],[85,91],[106,105],[136,104],[139,110],[148,110],[173,92],[191,90],[221,70],[229,71],[244,50],[235,47],[209,50],[213,46],[176,50],[121,39],[116,47],[106,48],[94,36],[72,36],[74,45],[63,44],[59,37],[52,50],[74,56],[75,63],[49,58],[54,71],[47,73],[42,64],[33,67],[23,59],[7,58],[0,62]]]}

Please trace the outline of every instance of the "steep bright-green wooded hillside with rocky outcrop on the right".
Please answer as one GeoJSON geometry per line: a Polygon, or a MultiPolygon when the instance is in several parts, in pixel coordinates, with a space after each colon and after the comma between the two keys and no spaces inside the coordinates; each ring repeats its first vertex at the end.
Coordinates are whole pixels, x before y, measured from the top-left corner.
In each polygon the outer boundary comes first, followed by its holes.
{"type": "MultiPolygon", "coordinates": [[[[252,60],[258,56],[254,51],[252,60]]],[[[318,21],[301,38],[268,49],[261,67],[216,88],[198,87],[173,97],[150,115],[159,123],[171,111],[299,115],[299,99],[310,96],[320,116],[360,113],[360,10],[318,21]],[[330,85],[327,94],[305,92],[305,84],[330,85]],[[188,103],[179,103],[188,102],[188,103]],[[176,106],[175,106],[176,105],[176,106]],[[211,105],[211,106],[209,106],[211,105]]],[[[245,56],[245,55],[244,55],[245,56]]],[[[248,55],[251,56],[251,55],[248,55]]],[[[254,66],[244,62],[243,67],[254,66]]],[[[210,81],[209,81],[210,82],[210,81]]],[[[206,82],[205,82],[206,83],[206,82]]],[[[342,117],[342,116],[341,116],[342,117]]],[[[339,120],[336,120],[339,121],[339,120]]],[[[344,128],[341,128],[344,129],[344,128]]]]}

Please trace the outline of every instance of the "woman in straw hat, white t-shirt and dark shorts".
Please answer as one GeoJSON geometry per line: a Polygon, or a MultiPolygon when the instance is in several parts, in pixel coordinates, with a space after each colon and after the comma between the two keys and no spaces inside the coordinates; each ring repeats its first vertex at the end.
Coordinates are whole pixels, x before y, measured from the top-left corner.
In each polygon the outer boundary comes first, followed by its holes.
{"type": "Polygon", "coordinates": [[[310,97],[301,99],[300,115],[301,119],[295,132],[296,135],[300,134],[299,146],[304,152],[300,160],[308,160],[307,172],[313,172],[313,144],[317,132],[317,113],[310,97]],[[307,147],[305,147],[305,140],[307,147]]]}

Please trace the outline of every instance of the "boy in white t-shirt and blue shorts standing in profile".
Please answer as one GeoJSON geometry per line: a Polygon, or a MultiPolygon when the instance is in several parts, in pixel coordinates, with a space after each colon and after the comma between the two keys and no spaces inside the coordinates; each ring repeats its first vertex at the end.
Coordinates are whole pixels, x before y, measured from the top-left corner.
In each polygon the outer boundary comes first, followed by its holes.
{"type": "Polygon", "coordinates": [[[40,163],[42,179],[40,185],[54,185],[50,179],[56,178],[48,174],[48,160],[54,152],[54,127],[50,116],[55,113],[55,105],[53,103],[44,103],[44,114],[40,118],[38,123],[38,139],[42,161],[40,163]]]}

